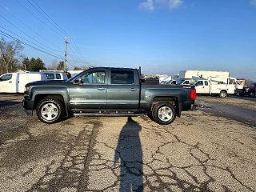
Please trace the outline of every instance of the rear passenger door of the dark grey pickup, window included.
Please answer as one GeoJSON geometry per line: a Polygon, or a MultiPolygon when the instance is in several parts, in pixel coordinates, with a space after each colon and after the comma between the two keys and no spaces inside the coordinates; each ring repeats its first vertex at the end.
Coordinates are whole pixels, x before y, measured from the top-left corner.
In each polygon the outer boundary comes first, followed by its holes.
{"type": "Polygon", "coordinates": [[[138,110],[139,79],[135,70],[111,70],[107,91],[109,110],[138,110]]]}

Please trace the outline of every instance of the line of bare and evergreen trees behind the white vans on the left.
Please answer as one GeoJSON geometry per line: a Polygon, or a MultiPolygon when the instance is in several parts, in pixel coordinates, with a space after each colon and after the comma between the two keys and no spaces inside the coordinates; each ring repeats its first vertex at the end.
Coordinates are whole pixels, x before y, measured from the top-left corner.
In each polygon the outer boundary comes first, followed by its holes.
{"type": "MultiPolygon", "coordinates": [[[[63,70],[64,62],[54,60],[49,66],[41,58],[24,57],[22,51],[24,47],[21,42],[7,42],[0,39],[0,75],[12,73],[17,70],[39,71],[39,70],[63,70]]],[[[91,66],[74,66],[74,70],[86,70],[91,66]]]]}

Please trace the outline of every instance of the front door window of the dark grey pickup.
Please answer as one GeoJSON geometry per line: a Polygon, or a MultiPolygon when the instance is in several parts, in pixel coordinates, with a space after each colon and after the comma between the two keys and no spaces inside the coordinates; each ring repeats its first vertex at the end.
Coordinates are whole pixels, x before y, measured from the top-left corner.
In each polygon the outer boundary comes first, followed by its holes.
{"type": "Polygon", "coordinates": [[[94,71],[83,74],[81,76],[83,83],[95,83],[95,84],[104,84],[105,83],[105,72],[104,71],[94,71]]]}

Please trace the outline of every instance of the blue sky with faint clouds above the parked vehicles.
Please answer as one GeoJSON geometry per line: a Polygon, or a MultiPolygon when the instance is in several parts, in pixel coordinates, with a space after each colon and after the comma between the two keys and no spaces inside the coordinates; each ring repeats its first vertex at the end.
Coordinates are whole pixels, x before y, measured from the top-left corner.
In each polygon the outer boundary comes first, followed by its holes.
{"type": "Polygon", "coordinates": [[[2,0],[0,27],[57,57],[25,46],[46,65],[63,58],[68,34],[70,69],[227,70],[256,80],[256,0],[2,0]]]}

